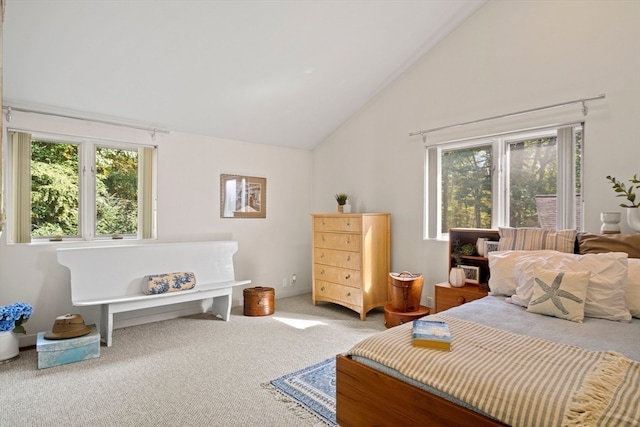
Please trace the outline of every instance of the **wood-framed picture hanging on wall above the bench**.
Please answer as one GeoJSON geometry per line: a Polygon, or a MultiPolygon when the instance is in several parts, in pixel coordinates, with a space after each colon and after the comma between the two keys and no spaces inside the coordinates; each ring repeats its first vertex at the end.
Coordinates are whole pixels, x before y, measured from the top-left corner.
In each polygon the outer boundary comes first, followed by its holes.
{"type": "Polygon", "coordinates": [[[267,179],[220,175],[220,218],[266,218],[267,179]]]}

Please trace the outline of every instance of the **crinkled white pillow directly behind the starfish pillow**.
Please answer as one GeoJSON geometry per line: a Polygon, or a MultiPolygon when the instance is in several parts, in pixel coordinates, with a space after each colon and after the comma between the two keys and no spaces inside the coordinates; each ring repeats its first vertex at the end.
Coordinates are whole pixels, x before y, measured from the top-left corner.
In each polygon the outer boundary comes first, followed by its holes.
{"type": "Polygon", "coordinates": [[[624,252],[600,254],[556,254],[551,257],[532,256],[516,263],[518,287],[507,302],[527,307],[533,291],[533,268],[592,273],[584,306],[586,317],[629,322],[631,313],[626,303],[628,259],[624,252]]]}

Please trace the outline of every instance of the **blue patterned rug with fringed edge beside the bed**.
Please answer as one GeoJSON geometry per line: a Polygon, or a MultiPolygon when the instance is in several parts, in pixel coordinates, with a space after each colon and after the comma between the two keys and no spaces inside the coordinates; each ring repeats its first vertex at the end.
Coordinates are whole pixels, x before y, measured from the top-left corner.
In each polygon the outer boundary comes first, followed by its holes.
{"type": "Polygon", "coordinates": [[[284,375],[269,384],[328,425],[337,426],[335,357],[284,375]]]}

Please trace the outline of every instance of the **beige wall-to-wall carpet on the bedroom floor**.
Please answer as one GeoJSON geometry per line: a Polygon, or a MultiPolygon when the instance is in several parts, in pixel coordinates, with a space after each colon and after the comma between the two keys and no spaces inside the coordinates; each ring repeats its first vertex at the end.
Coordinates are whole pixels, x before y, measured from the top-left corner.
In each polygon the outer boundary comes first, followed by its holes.
{"type": "Polygon", "coordinates": [[[37,369],[35,350],[0,365],[0,426],[300,426],[261,384],[384,330],[310,295],[276,300],[272,316],[232,310],[117,329],[98,359],[37,369]]]}

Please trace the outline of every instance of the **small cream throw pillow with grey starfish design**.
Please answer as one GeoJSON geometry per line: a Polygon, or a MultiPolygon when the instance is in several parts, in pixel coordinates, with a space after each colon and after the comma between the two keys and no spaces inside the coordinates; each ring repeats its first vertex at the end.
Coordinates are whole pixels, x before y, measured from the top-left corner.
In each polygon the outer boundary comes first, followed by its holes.
{"type": "Polygon", "coordinates": [[[527,311],[582,323],[588,272],[534,269],[533,295],[527,311]]]}

